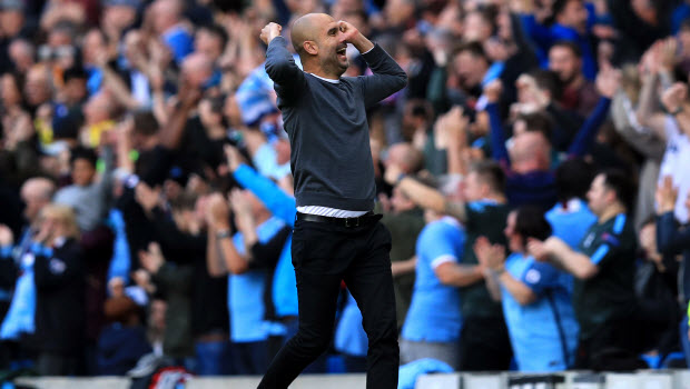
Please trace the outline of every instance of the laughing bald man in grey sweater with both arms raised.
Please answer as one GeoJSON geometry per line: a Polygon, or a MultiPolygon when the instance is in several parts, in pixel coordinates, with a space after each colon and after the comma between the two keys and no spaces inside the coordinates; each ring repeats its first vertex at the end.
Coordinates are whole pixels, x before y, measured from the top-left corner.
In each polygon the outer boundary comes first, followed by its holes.
{"type": "Polygon", "coordinates": [[[266,72],[290,140],[297,216],[293,265],[299,330],[278,352],[259,388],[288,385],[331,343],[336,300],[345,280],[368,336],[367,388],[396,388],[400,351],[391,276],[391,233],[374,215],[374,166],[366,109],[405,87],[403,69],[355,27],[324,13],[295,21],[292,41],[304,71],[280,37],[268,44],[266,72]],[[342,77],[353,44],[373,76],[342,77]]]}

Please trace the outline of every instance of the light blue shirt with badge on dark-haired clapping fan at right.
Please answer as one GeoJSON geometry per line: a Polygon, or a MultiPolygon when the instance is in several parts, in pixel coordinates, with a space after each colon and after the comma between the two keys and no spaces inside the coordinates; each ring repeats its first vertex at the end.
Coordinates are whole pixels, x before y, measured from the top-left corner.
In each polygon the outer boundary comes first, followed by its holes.
{"type": "Polygon", "coordinates": [[[511,255],[505,270],[525,283],[536,300],[521,306],[502,289],[503,315],[520,371],[558,371],[574,361],[578,321],[571,302],[572,290],[565,273],[533,257],[511,255]]]}

